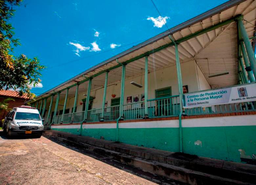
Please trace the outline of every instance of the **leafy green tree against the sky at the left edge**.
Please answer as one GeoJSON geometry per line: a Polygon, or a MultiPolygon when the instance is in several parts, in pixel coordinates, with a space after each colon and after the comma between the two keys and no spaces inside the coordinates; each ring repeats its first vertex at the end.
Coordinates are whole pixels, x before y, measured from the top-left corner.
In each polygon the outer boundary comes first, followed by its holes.
{"type": "Polygon", "coordinates": [[[13,47],[20,45],[13,38],[14,31],[8,20],[13,16],[13,7],[19,6],[22,0],[0,0],[0,90],[14,89],[20,96],[27,94],[29,98],[31,86],[40,83],[41,71],[37,58],[29,59],[26,55],[13,56],[13,47]]]}

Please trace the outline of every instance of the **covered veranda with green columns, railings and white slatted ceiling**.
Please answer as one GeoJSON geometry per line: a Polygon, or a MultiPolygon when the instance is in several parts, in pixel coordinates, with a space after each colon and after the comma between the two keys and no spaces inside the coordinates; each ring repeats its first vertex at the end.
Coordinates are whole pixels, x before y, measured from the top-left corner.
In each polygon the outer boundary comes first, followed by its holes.
{"type": "Polygon", "coordinates": [[[256,59],[252,46],[255,23],[254,0],[229,1],[86,70],[36,97],[31,104],[39,109],[44,124],[48,125],[157,117],[179,117],[181,122],[185,115],[253,110],[253,102],[184,109],[183,82],[191,75],[189,70],[182,73],[182,66],[193,61],[197,72],[203,74],[200,78],[209,85],[200,87],[198,79],[198,88],[190,88],[192,92],[255,82],[256,59]],[[168,79],[174,71],[163,70],[162,75],[165,81],[175,80],[173,93],[160,98],[152,96],[155,92],[150,88],[149,75],[168,67],[175,68],[175,79],[168,79]],[[125,81],[142,77],[143,82],[135,84],[143,89],[144,99],[127,103],[125,93],[129,89],[125,81]],[[106,106],[110,88],[116,88],[115,94],[120,99],[106,106]],[[99,89],[103,93],[96,96],[99,89]],[[79,94],[85,97],[77,111],[79,94]],[[96,106],[90,105],[98,101],[96,106]],[[67,111],[68,103],[73,104],[71,111],[67,111]]]}

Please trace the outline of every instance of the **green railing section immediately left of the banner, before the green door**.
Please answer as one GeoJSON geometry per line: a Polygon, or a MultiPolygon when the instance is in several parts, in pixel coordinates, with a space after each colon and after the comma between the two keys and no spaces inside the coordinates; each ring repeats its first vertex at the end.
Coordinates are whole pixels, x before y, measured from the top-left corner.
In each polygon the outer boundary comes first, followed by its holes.
{"type": "Polygon", "coordinates": [[[179,95],[148,101],[149,118],[179,116],[179,95]]]}

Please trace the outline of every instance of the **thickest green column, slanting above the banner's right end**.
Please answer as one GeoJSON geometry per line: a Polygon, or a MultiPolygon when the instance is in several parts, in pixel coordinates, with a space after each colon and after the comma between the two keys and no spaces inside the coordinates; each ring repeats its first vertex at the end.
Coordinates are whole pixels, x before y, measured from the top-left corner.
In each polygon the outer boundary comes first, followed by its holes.
{"type": "Polygon", "coordinates": [[[241,31],[241,35],[244,39],[245,48],[246,48],[246,51],[247,51],[247,54],[248,54],[250,65],[252,67],[252,71],[253,71],[253,74],[255,76],[256,75],[256,58],[255,58],[254,51],[252,49],[251,42],[249,40],[248,34],[246,32],[246,29],[245,29],[245,26],[244,26],[244,23],[243,23],[243,19],[244,18],[242,16],[237,18],[238,29],[241,31]]]}

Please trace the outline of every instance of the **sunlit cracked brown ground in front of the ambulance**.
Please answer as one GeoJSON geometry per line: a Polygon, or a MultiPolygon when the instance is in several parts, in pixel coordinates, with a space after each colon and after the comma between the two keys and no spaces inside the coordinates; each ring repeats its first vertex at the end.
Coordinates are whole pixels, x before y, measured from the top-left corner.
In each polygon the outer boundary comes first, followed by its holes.
{"type": "Polygon", "coordinates": [[[0,184],[176,184],[49,136],[5,137],[0,131],[0,184]]]}

